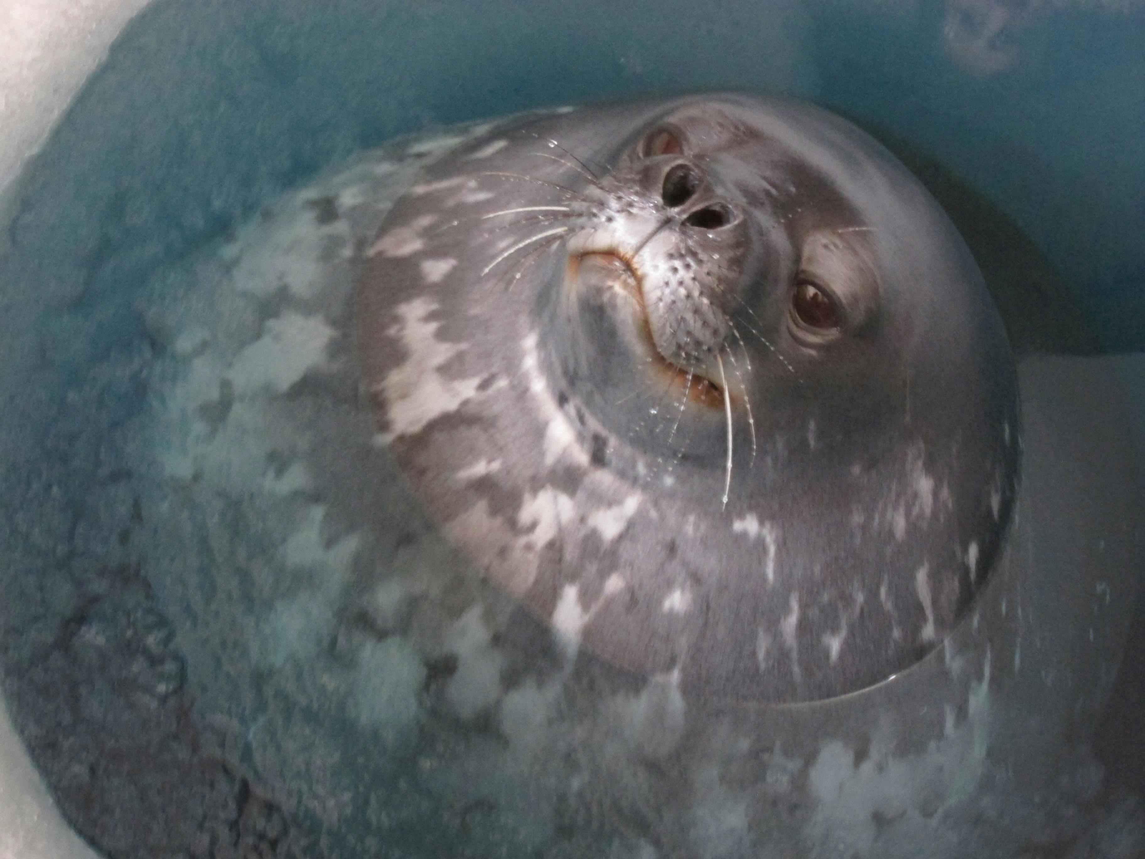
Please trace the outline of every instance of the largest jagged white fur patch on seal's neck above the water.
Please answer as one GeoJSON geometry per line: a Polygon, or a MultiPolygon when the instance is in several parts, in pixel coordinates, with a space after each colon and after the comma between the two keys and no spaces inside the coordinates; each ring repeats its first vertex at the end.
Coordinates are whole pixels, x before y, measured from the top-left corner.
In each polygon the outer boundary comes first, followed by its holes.
{"type": "MultiPolygon", "coordinates": [[[[457,411],[461,403],[476,395],[481,385],[481,377],[447,379],[439,371],[467,346],[436,338],[441,323],[426,321],[436,309],[437,304],[425,295],[396,308],[402,321],[390,329],[390,333],[401,338],[409,357],[374,387],[386,397],[386,418],[389,421],[387,441],[418,433],[431,420],[457,411]]],[[[498,385],[489,391],[496,387],[498,385]]]]}

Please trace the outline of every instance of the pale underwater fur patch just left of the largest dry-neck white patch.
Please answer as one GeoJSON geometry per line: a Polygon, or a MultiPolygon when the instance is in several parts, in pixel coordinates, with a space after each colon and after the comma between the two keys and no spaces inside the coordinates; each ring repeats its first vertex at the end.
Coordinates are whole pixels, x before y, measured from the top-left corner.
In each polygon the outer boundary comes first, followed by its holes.
{"type": "Polygon", "coordinates": [[[238,396],[263,389],[284,394],[307,371],[325,363],[326,346],[335,334],[321,316],[286,312],[267,321],[262,337],[238,353],[226,378],[238,396]]]}

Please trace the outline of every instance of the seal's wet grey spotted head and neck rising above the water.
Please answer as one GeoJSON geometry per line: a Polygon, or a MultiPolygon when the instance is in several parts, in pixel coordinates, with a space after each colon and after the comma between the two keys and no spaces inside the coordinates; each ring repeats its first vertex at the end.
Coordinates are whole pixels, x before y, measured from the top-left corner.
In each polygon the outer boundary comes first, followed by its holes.
{"type": "Polygon", "coordinates": [[[957,231],[845,120],[735,94],[526,117],[366,255],[379,440],[570,647],[822,700],[922,659],[987,578],[1013,357],[957,231]]]}

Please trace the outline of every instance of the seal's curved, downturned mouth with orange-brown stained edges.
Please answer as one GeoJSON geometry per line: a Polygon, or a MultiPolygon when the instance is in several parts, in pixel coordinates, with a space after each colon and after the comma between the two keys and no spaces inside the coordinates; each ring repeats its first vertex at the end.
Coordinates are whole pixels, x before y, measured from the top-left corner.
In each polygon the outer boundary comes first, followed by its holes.
{"type": "MultiPolygon", "coordinates": [[[[587,251],[569,257],[569,274],[583,282],[615,290],[635,304],[640,346],[660,379],[689,401],[710,409],[724,409],[724,388],[697,369],[669,361],[656,348],[645,304],[643,278],[638,267],[618,250],[587,251]]],[[[733,397],[735,399],[735,397],[733,397]]]]}

